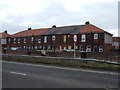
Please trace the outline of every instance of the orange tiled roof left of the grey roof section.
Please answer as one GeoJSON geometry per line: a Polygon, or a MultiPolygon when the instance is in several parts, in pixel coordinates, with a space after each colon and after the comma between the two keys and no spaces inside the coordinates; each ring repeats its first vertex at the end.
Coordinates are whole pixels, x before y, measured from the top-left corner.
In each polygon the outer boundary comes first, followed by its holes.
{"type": "Polygon", "coordinates": [[[23,37],[23,36],[32,36],[32,35],[42,35],[47,32],[49,28],[45,29],[33,29],[33,30],[25,30],[18,32],[16,34],[11,35],[11,37],[23,37]]]}

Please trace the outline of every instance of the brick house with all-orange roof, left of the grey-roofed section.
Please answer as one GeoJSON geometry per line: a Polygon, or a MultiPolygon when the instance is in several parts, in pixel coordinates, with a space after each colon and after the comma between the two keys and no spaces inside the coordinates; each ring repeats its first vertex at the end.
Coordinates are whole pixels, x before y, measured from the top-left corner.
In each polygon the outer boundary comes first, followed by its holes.
{"type": "Polygon", "coordinates": [[[11,35],[9,42],[11,48],[17,49],[42,49],[42,40],[41,36],[43,33],[48,31],[49,29],[31,29],[18,32],[16,34],[11,35]]]}

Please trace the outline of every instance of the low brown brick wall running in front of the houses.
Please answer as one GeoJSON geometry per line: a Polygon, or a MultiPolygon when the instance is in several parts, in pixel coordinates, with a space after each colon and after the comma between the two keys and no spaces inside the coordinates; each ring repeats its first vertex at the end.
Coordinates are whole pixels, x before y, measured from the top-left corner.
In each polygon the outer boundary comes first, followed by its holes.
{"type": "MultiPolygon", "coordinates": [[[[34,55],[34,56],[41,56],[41,51],[29,51],[29,55],[34,55]]],[[[6,51],[6,54],[17,54],[17,55],[28,55],[27,50],[8,50],[6,51]]],[[[74,56],[73,52],[52,52],[52,51],[47,51],[46,56],[47,57],[62,57],[62,58],[73,58],[74,56]]],[[[76,52],[76,58],[81,58],[81,53],[76,52]]],[[[91,60],[105,60],[105,61],[110,61],[110,62],[119,62],[120,60],[120,52],[90,52],[86,53],[86,60],[91,59],[91,60]]]]}

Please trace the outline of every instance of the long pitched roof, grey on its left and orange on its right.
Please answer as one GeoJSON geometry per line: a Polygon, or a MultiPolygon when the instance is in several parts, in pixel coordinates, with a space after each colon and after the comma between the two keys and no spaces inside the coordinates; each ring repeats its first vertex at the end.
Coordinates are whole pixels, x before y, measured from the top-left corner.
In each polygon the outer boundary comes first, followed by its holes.
{"type": "Polygon", "coordinates": [[[51,28],[48,32],[44,35],[49,34],[79,34],[79,33],[107,33],[112,35],[111,33],[102,30],[92,24],[87,25],[74,25],[74,26],[63,26],[63,27],[54,27],[51,28]]]}

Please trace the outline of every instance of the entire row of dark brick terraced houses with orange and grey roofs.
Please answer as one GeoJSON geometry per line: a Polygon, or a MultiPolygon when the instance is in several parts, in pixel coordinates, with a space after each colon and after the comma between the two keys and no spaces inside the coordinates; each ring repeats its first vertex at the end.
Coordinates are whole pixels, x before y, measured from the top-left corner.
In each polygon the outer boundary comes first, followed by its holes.
{"type": "Polygon", "coordinates": [[[62,26],[24,30],[13,35],[0,33],[0,44],[4,49],[73,51],[74,34],[77,35],[75,49],[85,52],[109,52],[120,49],[120,38],[95,25],[62,26]]]}

